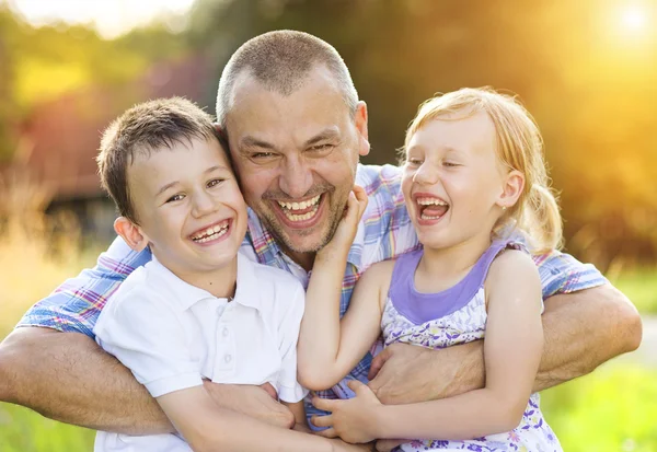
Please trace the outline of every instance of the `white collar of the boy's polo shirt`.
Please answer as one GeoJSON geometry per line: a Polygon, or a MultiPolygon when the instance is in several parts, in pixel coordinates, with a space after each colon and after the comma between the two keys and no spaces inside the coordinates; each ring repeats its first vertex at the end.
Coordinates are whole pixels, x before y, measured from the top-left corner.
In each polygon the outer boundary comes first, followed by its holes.
{"type": "MultiPolygon", "coordinates": [[[[226,298],[215,297],[207,290],[183,281],[169,268],[164,267],[154,255],[150,265],[151,271],[155,271],[160,275],[160,277],[165,279],[169,285],[169,289],[173,292],[177,306],[181,311],[186,311],[194,304],[206,299],[227,300],[226,298]]],[[[255,264],[252,263],[247,257],[241,253],[238,253],[237,289],[235,295],[231,302],[254,308],[260,311],[262,301],[256,290],[257,281],[255,277],[254,265],[255,264]]]]}

